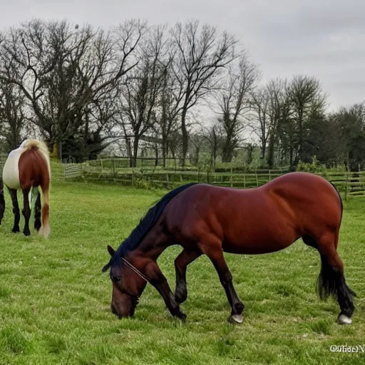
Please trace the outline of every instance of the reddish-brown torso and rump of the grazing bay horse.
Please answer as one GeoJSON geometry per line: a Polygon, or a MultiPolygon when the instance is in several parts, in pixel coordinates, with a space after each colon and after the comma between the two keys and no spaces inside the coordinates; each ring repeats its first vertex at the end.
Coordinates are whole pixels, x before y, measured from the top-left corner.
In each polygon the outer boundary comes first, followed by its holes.
{"type": "Polygon", "coordinates": [[[305,234],[336,230],[340,220],[334,187],[307,173],[246,190],[194,185],[175,197],[167,212],[169,230],[187,241],[214,235],[225,251],[247,254],[281,250],[305,234]]]}

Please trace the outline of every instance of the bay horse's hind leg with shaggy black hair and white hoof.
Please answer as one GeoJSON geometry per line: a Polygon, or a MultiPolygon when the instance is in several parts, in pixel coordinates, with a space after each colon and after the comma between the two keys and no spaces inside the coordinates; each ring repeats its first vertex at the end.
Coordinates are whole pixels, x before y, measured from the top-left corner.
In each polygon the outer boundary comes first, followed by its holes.
{"type": "Polygon", "coordinates": [[[324,235],[320,240],[317,240],[317,250],[321,255],[322,262],[317,290],[321,299],[327,299],[332,295],[339,303],[341,312],[337,322],[339,324],[351,324],[351,316],[355,309],[353,297],[356,297],[356,294],[346,284],[344,264],[336,251],[338,234],[335,237],[330,236],[324,235]]]}

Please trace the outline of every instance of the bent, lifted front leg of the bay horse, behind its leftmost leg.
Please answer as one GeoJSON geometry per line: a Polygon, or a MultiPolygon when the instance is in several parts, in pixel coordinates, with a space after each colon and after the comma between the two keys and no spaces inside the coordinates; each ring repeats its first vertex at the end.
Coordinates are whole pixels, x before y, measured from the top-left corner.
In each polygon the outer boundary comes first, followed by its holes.
{"type": "Polygon", "coordinates": [[[176,273],[176,288],[175,299],[178,303],[183,303],[187,299],[186,288],[186,267],[193,262],[197,257],[200,257],[202,252],[199,250],[184,249],[175,259],[175,273],[176,273]]]}

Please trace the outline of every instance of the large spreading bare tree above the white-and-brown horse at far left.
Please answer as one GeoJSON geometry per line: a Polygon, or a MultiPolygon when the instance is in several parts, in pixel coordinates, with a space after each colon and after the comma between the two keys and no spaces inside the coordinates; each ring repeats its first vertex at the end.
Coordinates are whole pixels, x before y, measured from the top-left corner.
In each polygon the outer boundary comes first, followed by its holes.
{"type": "Polygon", "coordinates": [[[33,123],[59,143],[85,123],[88,106],[135,66],[130,55],[144,30],[139,21],[126,21],[112,33],[74,29],[66,21],[30,21],[4,36],[0,78],[19,86],[33,123]]]}

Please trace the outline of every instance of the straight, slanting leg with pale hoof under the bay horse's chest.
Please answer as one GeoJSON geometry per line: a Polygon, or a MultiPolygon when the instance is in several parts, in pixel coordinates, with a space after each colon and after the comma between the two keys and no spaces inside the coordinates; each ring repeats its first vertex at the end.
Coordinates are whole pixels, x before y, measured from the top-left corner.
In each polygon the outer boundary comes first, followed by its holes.
{"type": "Polygon", "coordinates": [[[210,258],[210,261],[220,277],[222,287],[225,289],[225,294],[227,295],[228,302],[232,308],[230,321],[238,324],[242,323],[242,312],[245,309],[245,305],[240,301],[235,291],[235,287],[233,287],[232,274],[225,262],[221,243],[219,242],[219,246],[214,245],[214,247],[212,247],[212,245],[200,244],[200,247],[202,248],[202,252],[210,258]]]}

